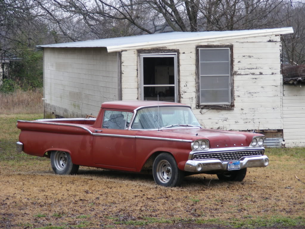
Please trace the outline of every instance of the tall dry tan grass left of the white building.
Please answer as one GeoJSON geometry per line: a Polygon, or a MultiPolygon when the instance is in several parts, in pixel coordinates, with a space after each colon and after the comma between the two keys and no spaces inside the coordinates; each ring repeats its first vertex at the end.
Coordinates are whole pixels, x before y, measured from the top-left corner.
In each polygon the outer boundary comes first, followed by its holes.
{"type": "Polygon", "coordinates": [[[34,91],[16,90],[13,93],[0,93],[1,114],[37,114],[43,112],[41,89],[34,91]]]}

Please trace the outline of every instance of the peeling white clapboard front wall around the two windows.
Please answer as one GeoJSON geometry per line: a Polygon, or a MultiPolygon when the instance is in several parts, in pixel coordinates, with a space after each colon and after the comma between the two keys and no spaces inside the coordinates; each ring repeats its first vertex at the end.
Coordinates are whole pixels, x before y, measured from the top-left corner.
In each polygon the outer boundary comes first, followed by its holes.
{"type": "MultiPolygon", "coordinates": [[[[180,101],[192,107],[201,125],[213,129],[282,129],[281,38],[240,38],[172,45],[179,50],[180,101]],[[196,45],[233,45],[234,110],[198,109],[196,45]]],[[[162,47],[164,49],[164,47],[162,47]]],[[[122,98],[137,100],[139,72],[135,50],[122,52],[122,98]]]]}

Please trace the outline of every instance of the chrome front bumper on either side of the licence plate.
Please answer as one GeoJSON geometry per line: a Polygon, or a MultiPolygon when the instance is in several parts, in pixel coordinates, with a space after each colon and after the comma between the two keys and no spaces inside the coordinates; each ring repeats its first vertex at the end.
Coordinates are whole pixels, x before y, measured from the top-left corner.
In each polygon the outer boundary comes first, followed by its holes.
{"type": "MultiPolygon", "coordinates": [[[[253,167],[266,167],[269,164],[269,159],[266,155],[244,157],[240,160],[240,169],[253,167]]],[[[210,160],[188,160],[184,167],[188,172],[206,172],[213,170],[228,170],[228,162],[221,162],[219,159],[210,160]]]]}

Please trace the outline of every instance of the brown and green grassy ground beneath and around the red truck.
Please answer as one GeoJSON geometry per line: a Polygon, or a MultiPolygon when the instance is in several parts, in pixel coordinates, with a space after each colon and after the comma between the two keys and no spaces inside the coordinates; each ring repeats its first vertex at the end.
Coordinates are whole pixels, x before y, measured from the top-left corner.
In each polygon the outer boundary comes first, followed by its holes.
{"type": "Polygon", "coordinates": [[[166,188],[152,176],[85,167],[58,176],[49,159],[15,151],[16,120],[38,118],[0,115],[0,227],[305,227],[303,148],[267,149],[270,165],[250,168],[243,182],[196,175],[166,188]]]}

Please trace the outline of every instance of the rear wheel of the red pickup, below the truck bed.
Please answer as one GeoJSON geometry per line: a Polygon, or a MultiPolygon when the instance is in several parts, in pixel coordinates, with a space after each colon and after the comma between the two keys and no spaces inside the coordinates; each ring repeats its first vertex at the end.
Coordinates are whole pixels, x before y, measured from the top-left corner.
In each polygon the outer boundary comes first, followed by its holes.
{"type": "Polygon", "coordinates": [[[59,175],[76,174],[79,165],[74,165],[69,153],[54,151],[51,153],[51,166],[54,173],[59,175]]]}

